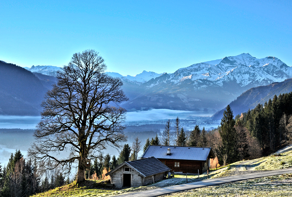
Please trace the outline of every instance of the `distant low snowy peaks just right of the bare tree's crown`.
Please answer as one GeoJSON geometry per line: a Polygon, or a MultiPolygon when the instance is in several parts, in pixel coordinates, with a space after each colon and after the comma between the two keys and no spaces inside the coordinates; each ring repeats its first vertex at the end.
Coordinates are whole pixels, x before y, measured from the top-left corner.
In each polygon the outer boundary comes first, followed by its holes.
{"type": "Polygon", "coordinates": [[[140,73],[138,75],[135,75],[135,76],[130,76],[130,75],[122,76],[119,73],[112,73],[112,72],[106,72],[106,73],[109,76],[119,77],[119,78],[121,78],[124,81],[129,80],[129,81],[135,82],[135,83],[137,83],[139,85],[142,84],[142,83],[145,83],[145,82],[149,81],[152,78],[157,78],[160,75],[162,75],[162,74],[157,74],[157,73],[154,73],[154,72],[151,72],[151,71],[149,71],[149,72],[143,71],[142,73],[140,73]]]}

